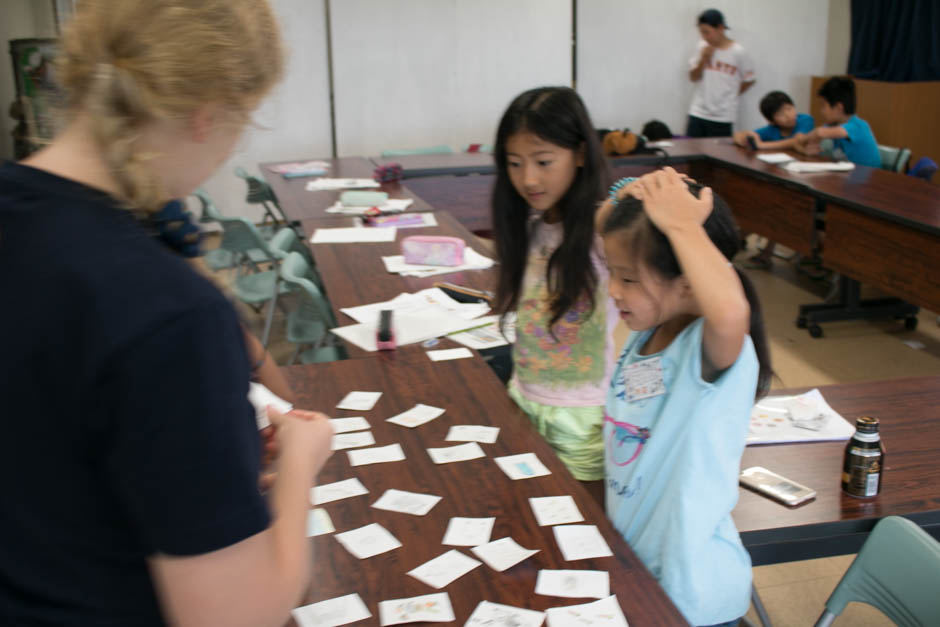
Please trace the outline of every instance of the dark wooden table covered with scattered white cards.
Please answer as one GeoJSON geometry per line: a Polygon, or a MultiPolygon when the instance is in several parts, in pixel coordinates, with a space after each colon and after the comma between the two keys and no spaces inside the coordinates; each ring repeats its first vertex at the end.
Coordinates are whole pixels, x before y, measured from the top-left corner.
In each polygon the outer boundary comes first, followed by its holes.
{"type": "Polygon", "coordinates": [[[610,592],[617,596],[631,625],[686,624],[599,505],[571,477],[481,360],[431,363],[423,355],[391,353],[373,359],[291,366],[285,373],[297,393],[298,407],[319,409],[333,417],[362,415],[371,424],[377,446],[400,443],[406,457],[404,461],[354,467],[346,451],[337,451],[327,462],[319,484],[356,477],[369,490],[367,495],[322,505],[336,531],[375,522],[388,529],[402,546],[359,560],[332,535],[314,538],[313,583],[304,603],[356,592],[373,614],[369,624],[377,624],[380,601],[438,592],[405,573],[453,548],[470,553],[468,547],[441,543],[451,517],[495,517],[492,540],[511,537],[539,552],[503,572],[481,565],[444,587],[441,591],[450,596],[457,624],[464,624],[483,600],[535,610],[592,600],[535,594],[540,569],[606,571],[610,573],[610,592]],[[382,392],[382,397],[368,412],[333,409],[353,390],[382,392]],[[386,422],[416,403],[446,411],[414,429],[386,422]],[[480,445],[485,458],[432,463],[426,449],[459,444],[444,438],[451,426],[461,424],[499,427],[499,437],[493,444],[480,445]],[[517,453],[535,453],[551,474],[510,480],[493,458],[517,453]],[[370,507],[388,489],[431,494],[442,500],[425,516],[370,507]],[[566,495],[574,498],[584,516],[582,524],[598,527],[612,557],[565,561],[552,527],[537,524],[528,499],[566,495]]]}

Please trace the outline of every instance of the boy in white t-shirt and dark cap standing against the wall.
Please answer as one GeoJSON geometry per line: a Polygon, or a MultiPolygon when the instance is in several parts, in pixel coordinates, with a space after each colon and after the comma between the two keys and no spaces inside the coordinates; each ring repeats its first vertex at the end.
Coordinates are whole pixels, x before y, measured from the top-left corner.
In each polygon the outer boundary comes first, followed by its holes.
{"type": "Polygon", "coordinates": [[[738,99],[754,84],[751,57],[725,35],[727,28],[717,9],[698,16],[702,41],[689,59],[689,79],[697,83],[689,107],[689,137],[730,136],[738,117],[738,99]]]}

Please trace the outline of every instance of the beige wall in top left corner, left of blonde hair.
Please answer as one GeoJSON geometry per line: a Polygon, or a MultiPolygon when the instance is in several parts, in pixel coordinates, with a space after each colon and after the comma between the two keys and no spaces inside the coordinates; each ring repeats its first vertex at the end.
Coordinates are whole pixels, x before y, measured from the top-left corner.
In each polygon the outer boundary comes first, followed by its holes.
{"type": "Polygon", "coordinates": [[[55,36],[51,1],[0,0],[0,159],[13,158],[10,133],[16,126],[9,116],[10,103],[16,98],[9,41],[55,36]]]}

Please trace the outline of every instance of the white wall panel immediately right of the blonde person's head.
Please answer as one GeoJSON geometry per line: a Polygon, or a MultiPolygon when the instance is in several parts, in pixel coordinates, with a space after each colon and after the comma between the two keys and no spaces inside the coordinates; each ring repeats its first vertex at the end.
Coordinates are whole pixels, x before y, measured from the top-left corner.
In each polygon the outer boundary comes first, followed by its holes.
{"type": "Polygon", "coordinates": [[[329,157],[329,80],[324,0],[272,0],[287,49],[284,79],[254,116],[235,152],[203,185],[222,213],[260,220],[245,203],[247,188],[233,170],[260,175],[258,163],[329,157]]]}

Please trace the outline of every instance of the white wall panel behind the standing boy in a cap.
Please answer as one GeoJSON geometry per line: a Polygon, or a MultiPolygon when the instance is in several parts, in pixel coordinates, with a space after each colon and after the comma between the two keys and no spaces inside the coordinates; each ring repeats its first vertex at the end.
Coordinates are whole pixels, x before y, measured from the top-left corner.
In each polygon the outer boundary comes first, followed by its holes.
{"type": "Polygon", "coordinates": [[[826,61],[829,3],[819,0],[582,0],[578,2],[578,91],[598,127],[636,131],[660,119],[685,132],[693,85],[688,59],[699,40],[699,13],[714,6],[756,66],[736,128],[765,124],[757,104],[782,89],[809,110],[810,76],[826,61]]]}

